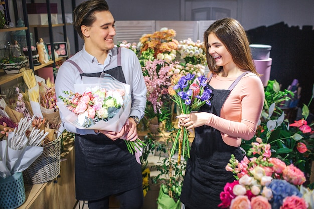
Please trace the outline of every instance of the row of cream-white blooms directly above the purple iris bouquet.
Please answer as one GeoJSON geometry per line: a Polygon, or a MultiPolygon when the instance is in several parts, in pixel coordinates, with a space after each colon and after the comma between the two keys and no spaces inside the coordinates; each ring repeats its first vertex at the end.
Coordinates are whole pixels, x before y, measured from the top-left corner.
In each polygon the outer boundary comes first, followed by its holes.
{"type": "Polygon", "coordinates": [[[169,72],[170,75],[174,74],[187,75],[189,73],[196,75],[197,77],[200,77],[205,73],[205,66],[201,64],[192,65],[190,63],[186,63],[185,66],[175,64],[169,72]]]}

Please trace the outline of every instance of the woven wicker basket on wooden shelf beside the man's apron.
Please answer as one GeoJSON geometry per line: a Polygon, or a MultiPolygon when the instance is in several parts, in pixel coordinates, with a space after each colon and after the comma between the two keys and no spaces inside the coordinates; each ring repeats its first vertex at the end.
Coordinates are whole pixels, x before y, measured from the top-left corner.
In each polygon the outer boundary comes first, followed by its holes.
{"type": "Polygon", "coordinates": [[[23,171],[24,181],[40,184],[56,178],[60,173],[61,137],[44,146],[43,153],[23,171]]]}

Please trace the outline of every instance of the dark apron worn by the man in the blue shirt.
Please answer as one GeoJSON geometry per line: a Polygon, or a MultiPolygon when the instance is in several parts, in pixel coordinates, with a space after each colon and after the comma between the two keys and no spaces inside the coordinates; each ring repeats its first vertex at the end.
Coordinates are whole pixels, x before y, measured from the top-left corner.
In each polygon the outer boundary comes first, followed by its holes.
{"type": "MultiPolygon", "coordinates": [[[[97,77],[99,73],[83,73],[73,61],[81,77],[97,77]]],[[[118,48],[117,67],[104,71],[120,82],[126,83],[121,67],[121,52],[118,48]]],[[[76,199],[98,200],[142,184],[141,165],[127,150],[124,140],[112,141],[103,134],[75,134],[75,192],[76,199]]]]}

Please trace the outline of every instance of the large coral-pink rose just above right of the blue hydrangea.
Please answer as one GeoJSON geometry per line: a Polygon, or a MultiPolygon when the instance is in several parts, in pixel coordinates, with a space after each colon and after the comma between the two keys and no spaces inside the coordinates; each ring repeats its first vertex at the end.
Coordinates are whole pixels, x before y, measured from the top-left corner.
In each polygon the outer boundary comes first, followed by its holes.
{"type": "Polygon", "coordinates": [[[306,180],[304,173],[293,164],[286,166],[282,171],[282,177],[284,180],[293,183],[294,185],[301,185],[306,180]]]}

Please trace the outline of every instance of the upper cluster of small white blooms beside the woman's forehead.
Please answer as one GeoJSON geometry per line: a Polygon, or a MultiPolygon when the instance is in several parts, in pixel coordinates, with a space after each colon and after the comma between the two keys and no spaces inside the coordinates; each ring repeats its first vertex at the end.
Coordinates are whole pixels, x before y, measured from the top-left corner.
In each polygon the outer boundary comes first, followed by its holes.
{"type": "Polygon", "coordinates": [[[201,42],[200,40],[193,42],[191,38],[180,41],[178,45],[178,52],[180,53],[182,59],[193,56],[197,59],[203,59],[205,58],[205,52],[203,49],[204,42],[201,42]]]}

